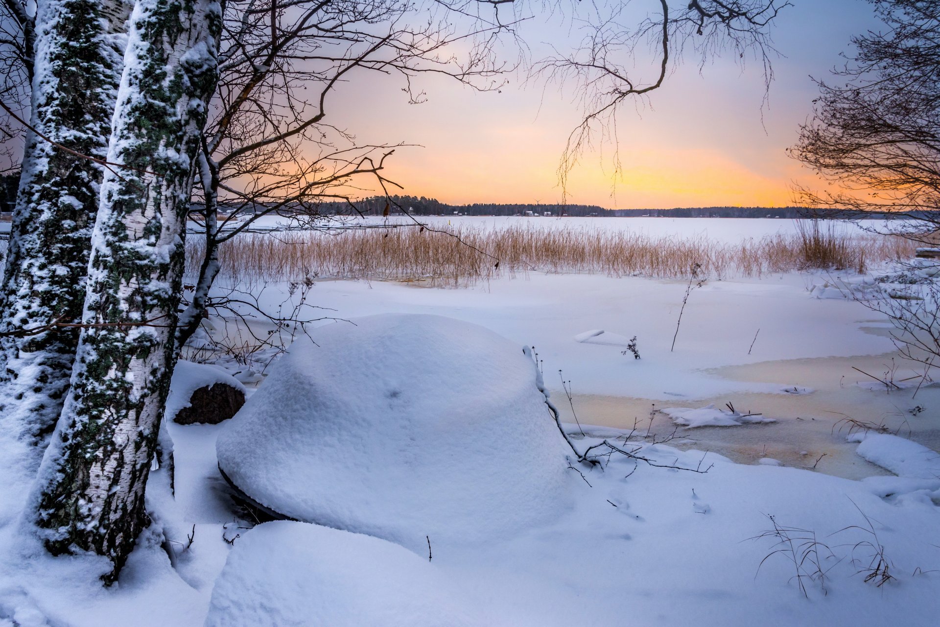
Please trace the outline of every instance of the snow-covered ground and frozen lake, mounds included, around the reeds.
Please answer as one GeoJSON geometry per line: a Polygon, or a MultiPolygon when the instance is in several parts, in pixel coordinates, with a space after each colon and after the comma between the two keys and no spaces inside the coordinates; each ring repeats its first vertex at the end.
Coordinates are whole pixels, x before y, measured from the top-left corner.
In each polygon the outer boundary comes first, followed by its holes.
{"type": "MultiPolygon", "coordinates": [[[[728,242],[795,228],[431,220],[728,242]]],[[[267,367],[219,360],[249,386],[239,415],[167,421],[175,497],[153,472],[154,525],[118,585],[0,523],[0,625],[935,625],[940,388],[914,396],[922,368],[838,279],[319,281],[309,302],[335,320],[313,342],[267,367]],[[257,525],[219,468],[301,522],[257,525]]],[[[220,376],[182,368],[171,411],[220,376]]]]}

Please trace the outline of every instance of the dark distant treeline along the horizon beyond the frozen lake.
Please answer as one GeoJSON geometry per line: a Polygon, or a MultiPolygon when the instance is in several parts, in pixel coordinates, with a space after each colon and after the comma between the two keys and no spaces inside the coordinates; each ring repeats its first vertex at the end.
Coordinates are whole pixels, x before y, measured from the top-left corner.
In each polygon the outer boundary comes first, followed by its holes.
{"type": "MultiPolygon", "coordinates": [[[[409,212],[414,215],[571,215],[597,217],[670,217],[670,218],[870,218],[885,214],[865,214],[834,209],[807,209],[806,207],[677,207],[675,209],[604,209],[597,205],[543,205],[493,204],[448,205],[436,198],[425,196],[372,196],[355,202],[355,208],[364,215],[384,215],[409,212]]],[[[347,203],[324,203],[323,213],[354,212],[347,203]]]]}

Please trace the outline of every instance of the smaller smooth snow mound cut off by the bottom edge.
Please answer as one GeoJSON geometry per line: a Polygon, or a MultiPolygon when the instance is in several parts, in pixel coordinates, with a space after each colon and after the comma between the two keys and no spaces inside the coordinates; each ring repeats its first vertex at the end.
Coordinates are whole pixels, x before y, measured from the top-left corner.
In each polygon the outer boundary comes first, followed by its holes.
{"type": "Polygon", "coordinates": [[[472,621],[427,557],[320,525],[279,521],[235,541],[206,627],[462,627],[472,621]]]}

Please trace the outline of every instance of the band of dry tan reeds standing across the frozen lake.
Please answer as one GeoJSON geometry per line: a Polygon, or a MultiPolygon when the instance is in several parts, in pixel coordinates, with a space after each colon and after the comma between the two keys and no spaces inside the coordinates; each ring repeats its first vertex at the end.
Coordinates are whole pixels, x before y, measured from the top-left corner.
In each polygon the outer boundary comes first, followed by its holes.
{"type": "MultiPolygon", "coordinates": [[[[188,240],[188,272],[197,271],[204,245],[198,237],[188,240]]],[[[815,223],[739,243],[601,228],[397,227],[243,234],[221,247],[220,258],[223,274],[236,280],[319,276],[460,287],[527,272],[686,277],[695,263],[714,278],[812,268],[864,272],[870,263],[913,256],[915,245],[815,223]]]]}

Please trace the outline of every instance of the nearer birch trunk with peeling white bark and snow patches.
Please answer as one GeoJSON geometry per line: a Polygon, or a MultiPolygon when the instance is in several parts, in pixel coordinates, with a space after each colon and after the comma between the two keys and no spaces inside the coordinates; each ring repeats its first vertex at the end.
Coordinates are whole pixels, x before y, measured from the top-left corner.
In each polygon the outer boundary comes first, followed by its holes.
{"type": "Polygon", "coordinates": [[[183,237],[217,80],[217,0],[137,0],[124,57],[71,388],[39,472],[55,555],[117,576],[148,524],[144,488],[175,359],[183,237]]]}

